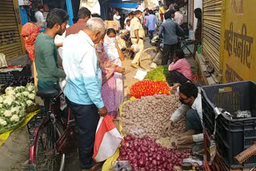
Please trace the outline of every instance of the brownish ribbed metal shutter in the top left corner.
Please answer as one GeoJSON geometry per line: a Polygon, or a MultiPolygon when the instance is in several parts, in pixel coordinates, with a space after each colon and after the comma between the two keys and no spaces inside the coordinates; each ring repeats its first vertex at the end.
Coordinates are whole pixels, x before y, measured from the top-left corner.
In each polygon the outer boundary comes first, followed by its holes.
{"type": "Polygon", "coordinates": [[[0,1],[0,53],[6,55],[6,60],[18,58],[24,53],[20,37],[21,20],[18,1],[0,1]]]}

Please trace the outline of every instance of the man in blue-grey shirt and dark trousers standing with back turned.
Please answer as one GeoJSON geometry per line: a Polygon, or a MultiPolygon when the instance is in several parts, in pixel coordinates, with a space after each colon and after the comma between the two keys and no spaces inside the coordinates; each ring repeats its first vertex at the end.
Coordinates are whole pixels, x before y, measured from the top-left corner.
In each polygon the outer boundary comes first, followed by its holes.
{"type": "Polygon", "coordinates": [[[171,18],[174,18],[175,10],[170,9],[165,14],[166,22],[163,22],[160,26],[159,36],[163,34],[163,50],[162,50],[162,66],[168,64],[174,59],[174,50],[178,49],[178,36],[184,37],[185,33],[182,30],[182,27],[178,23],[172,21],[171,18]]]}

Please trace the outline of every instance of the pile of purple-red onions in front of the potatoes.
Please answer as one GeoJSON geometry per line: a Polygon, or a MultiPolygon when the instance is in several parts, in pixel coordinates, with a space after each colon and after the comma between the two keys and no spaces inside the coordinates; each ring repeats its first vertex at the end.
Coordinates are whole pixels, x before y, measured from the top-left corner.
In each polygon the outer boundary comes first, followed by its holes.
{"type": "Polygon", "coordinates": [[[173,171],[174,165],[182,165],[190,157],[191,150],[167,149],[150,137],[125,137],[120,148],[119,161],[129,161],[133,169],[140,171],[173,171]]]}

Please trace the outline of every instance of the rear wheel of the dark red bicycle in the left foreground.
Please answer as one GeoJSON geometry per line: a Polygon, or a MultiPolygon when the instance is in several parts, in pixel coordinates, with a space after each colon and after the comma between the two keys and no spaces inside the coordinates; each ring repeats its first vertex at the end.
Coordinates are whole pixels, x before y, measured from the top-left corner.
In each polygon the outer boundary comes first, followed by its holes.
{"type": "Polygon", "coordinates": [[[62,133],[61,124],[53,124],[50,120],[39,128],[35,154],[37,171],[64,170],[65,153],[58,153],[56,148],[56,141],[62,133]]]}

